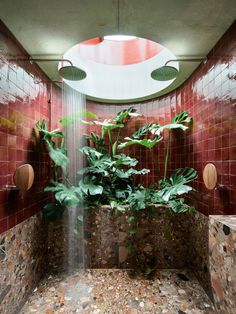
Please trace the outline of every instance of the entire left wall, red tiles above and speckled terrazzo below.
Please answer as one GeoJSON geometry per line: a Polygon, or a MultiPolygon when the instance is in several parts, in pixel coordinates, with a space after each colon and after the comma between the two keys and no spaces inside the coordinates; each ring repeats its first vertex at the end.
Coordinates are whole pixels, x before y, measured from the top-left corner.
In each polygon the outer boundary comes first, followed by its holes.
{"type": "Polygon", "coordinates": [[[48,201],[43,188],[51,167],[32,130],[39,119],[56,128],[61,112],[58,88],[36,65],[16,57],[28,55],[0,22],[0,312],[6,314],[18,313],[45,273],[47,229],[37,213],[48,201]],[[25,193],[6,189],[25,163],[34,168],[33,187],[25,193]]]}

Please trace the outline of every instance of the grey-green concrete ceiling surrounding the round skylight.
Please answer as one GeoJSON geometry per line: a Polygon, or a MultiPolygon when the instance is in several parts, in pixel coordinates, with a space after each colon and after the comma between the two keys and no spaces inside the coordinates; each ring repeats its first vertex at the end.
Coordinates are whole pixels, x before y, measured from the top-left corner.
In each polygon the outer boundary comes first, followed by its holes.
{"type": "MultiPolygon", "coordinates": [[[[61,57],[73,45],[118,33],[118,0],[1,0],[0,18],[32,57],[61,57]]],[[[234,22],[235,0],[119,0],[119,33],[151,39],[177,57],[204,57],[234,22]]],[[[180,63],[166,93],[199,63],[180,63]]],[[[39,66],[58,79],[56,63],[39,66]]]]}

